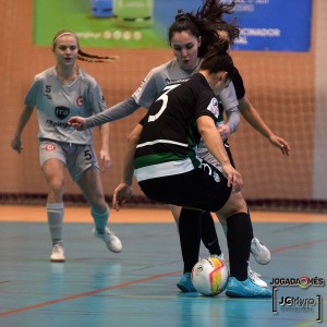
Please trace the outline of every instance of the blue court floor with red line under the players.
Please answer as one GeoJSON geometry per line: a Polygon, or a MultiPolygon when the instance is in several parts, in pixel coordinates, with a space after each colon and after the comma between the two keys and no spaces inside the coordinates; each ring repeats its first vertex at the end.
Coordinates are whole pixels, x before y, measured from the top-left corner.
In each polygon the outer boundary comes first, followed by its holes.
{"type": "MultiPolygon", "coordinates": [[[[53,264],[46,222],[0,221],[0,326],[327,326],[326,287],[278,286],[274,301],[181,293],[172,220],[110,228],[123,243],[120,254],[93,237],[90,222],[65,222],[66,262],[53,264]]],[[[254,230],[271,251],[267,266],[251,259],[267,282],[303,276],[326,282],[326,222],[254,222],[254,230]]]]}

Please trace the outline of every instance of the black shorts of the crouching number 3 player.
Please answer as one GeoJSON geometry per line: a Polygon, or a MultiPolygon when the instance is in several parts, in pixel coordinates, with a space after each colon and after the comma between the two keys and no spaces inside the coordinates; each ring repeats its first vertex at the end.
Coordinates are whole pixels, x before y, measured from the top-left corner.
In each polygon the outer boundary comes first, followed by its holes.
{"type": "Polygon", "coordinates": [[[231,194],[227,178],[205,161],[192,171],[144,180],[138,184],[144,194],[156,202],[206,211],[219,210],[231,194]]]}

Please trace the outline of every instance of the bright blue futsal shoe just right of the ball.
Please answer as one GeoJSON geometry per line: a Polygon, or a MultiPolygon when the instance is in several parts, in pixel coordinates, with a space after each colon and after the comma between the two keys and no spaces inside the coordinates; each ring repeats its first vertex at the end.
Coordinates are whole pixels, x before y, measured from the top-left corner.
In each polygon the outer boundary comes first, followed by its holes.
{"type": "Polygon", "coordinates": [[[272,291],[254,283],[250,278],[240,281],[234,277],[228,279],[226,295],[229,298],[271,298],[272,291]]]}

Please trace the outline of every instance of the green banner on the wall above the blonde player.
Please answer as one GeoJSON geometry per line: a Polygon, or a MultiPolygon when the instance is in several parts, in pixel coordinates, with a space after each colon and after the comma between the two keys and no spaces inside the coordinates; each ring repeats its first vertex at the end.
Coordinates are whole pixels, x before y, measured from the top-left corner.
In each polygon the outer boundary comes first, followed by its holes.
{"type": "Polygon", "coordinates": [[[174,14],[154,19],[154,0],[34,0],[34,44],[50,46],[58,31],[72,29],[82,47],[167,48],[174,14]]]}

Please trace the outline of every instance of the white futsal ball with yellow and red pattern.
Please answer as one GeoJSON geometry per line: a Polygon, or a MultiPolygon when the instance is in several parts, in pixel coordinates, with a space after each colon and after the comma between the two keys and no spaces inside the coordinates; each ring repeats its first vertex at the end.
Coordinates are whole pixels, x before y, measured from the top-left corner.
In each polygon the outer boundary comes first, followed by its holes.
{"type": "Polygon", "coordinates": [[[225,291],[229,278],[226,263],[209,256],[196,263],[192,269],[192,282],[196,291],[206,296],[214,296],[225,291]]]}

